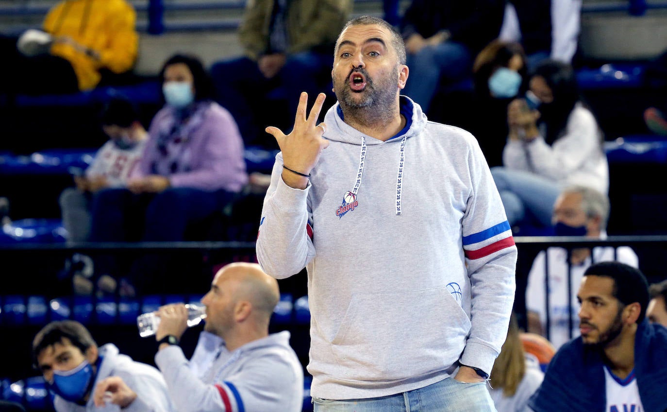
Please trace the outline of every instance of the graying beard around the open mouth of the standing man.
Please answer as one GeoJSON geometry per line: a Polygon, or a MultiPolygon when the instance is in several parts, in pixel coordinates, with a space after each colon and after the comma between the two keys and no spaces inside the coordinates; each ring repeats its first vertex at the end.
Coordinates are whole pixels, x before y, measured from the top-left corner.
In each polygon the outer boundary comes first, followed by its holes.
{"type": "Polygon", "coordinates": [[[353,69],[346,77],[344,83],[339,83],[333,79],[333,89],[336,91],[336,97],[345,110],[360,110],[376,106],[377,108],[388,108],[396,99],[396,89],[398,85],[398,71],[394,71],[384,81],[377,85],[364,69],[353,69]],[[362,91],[354,91],[350,88],[350,77],[353,73],[361,73],[366,79],[366,87],[362,91]],[[358,95],[358,96],[355,96],[358,95]],[[356,99],[355,97],[362,97],[356,99]]]}

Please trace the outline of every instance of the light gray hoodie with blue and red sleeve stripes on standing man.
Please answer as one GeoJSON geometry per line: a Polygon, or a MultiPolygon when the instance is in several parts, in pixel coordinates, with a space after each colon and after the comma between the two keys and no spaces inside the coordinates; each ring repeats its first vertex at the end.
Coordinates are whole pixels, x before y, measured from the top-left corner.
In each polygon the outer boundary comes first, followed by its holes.
{"type": "Polygon", "coordinates": [[[263,270],[308,272],[311,395],[381,397],[491,371],[514,302],[516,246],[475,138],[428,122],[382,142],[325,117],[329,147],[305,190],[277,155],[257,238],[263,270]]]}

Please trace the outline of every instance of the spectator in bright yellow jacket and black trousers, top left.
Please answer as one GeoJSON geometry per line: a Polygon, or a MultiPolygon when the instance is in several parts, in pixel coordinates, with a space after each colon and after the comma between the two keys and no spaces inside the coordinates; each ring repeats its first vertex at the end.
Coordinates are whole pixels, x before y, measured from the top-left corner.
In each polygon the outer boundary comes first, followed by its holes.
{"type": "Polygon", "coordinates": [[[27,55],[17,49],[16,39],[1,39],[0,92],[71,93],[93,89],[103,79],[113,81],[130,71],[137,58],[135,20],[126,0],[59,1],[44,19],[45,33],[19,39],[27,55]],[[30,47],[31,42],[41,44],[43,52],[30,47]]]}

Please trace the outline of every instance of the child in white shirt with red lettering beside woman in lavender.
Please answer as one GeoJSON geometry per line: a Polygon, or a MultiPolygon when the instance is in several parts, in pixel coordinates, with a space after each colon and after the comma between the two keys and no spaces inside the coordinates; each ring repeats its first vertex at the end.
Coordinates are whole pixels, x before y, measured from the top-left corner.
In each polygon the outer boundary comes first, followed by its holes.
{"type": "Polygon", "coordinates": [[[109,101],[101,114],[101,124],[109,142],[97,151],[85,172],[71,171],[76,188],[67,188],[60,195],[63,226],[70,242],[89,240],[93,194],[106,188],[127,186],[148,136],[139,121],[137,108],[125,98],[115,97],[109,101]]]}

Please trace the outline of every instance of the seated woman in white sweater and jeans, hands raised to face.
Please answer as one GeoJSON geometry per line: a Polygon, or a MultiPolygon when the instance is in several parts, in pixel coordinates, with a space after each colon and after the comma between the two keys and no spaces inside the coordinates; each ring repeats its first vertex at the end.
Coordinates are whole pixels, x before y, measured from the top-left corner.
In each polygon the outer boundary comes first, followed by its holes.
{"type": "Polygon", "coordinates": [[[545,61],[529,84],[527,98],[508,107],[504,166],[491,170],[508,220],[518,230],[530,224],[548,228],[556,197],[568,184],[604,194],[609,188],[602,132],[580,101],[572,66],[545,61]]]}

